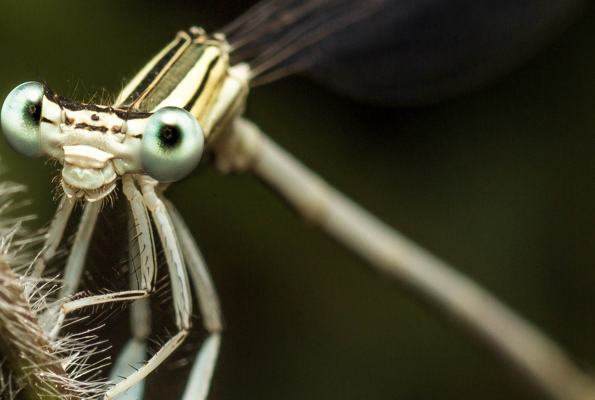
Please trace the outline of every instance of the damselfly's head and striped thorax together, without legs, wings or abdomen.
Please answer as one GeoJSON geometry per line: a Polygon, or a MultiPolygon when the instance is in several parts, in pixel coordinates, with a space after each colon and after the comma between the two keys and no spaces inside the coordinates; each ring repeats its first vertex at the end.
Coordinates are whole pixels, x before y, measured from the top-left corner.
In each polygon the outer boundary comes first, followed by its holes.
{"type": "Polygon", "coordinates": [[[212,143],[245,104],[249,68],[230,67],[228,52],[223,35],[180,32],[111,107],[24,83],[4,102],[2,131],[15,151],[62,164],[68,198],[98,201],[124,174],[179,180],[198,164],[205,139],[212,143]]]}

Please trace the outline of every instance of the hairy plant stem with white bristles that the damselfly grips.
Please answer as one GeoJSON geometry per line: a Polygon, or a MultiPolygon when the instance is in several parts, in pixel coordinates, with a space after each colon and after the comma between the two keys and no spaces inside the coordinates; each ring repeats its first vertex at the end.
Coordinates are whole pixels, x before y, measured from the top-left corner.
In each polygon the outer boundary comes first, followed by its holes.
{"type": "Polygon", "coordinates": [[[52,309],[61,283],[27,274],[45,235],[23,226],[31,216],[15,216],[28,204],[17,200],[25,190],[0,180],[0,399],[19,393],[36,400],[101,399],[109,385],[99,371],[109,362],[89,361],[105,347],[93,329],[51,342],[37,319],[52,309]]]}

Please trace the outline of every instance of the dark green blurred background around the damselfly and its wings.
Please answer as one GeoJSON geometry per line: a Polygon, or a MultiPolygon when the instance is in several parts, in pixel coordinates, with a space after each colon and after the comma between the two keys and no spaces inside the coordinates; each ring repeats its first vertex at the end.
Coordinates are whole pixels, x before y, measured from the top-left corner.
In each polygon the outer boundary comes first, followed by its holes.
{"type": "MultiPolygon", "coordinates": [[[[62,95],[78,86],[78,99],[85,89],[117,93],[123,77],[177,30],[216,29],[245,7],[4,1],[0,97],[35,73],[62,95]]],[[[453,101],[370,107],[292,77],[253,89],[246,114],[592,370],[593,17],[591,5],[527,64],[453,101]]],[[[46,223],[55,168],[4,144],[0,155],[5,179],[30,187],[34,225],[46,223]]],[[[481,346],[297,220],[252,177],[202,167],[168,197],[195,234],[223,304],[227,328],[210,399],[541,398],[481,346]]],[[[192,337],[189,349],[203,336],[192,337]]],[[[146,399],[180,397],[183,357],[150,376],[146,399]]]]}

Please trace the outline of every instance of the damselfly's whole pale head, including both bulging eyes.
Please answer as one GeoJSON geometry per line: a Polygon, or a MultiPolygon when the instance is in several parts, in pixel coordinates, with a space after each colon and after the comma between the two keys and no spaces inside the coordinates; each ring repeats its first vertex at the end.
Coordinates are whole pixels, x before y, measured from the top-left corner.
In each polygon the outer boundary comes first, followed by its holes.
{"type": "Polygon", "coordinates": [[[58,160],[65,195],[87,201],[107,196],[124,174],[179,180],[194,170],[204,143],[198,121],[181,108],[146,113],[82,104],[37,82],[12,90],[0,118],[12,149],[58,160]]]}

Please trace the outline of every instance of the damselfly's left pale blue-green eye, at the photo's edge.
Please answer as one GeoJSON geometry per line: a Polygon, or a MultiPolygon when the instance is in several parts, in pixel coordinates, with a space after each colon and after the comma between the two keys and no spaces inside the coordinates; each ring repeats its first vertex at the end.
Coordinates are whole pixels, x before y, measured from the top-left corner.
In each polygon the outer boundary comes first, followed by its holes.
{"type": "Polygon", "coordinates": [[[27,82],[10,92],[2,105],[0,124],[4,139],[25,157],[40,157],[40,125],[43,85],[27,82]]]}

